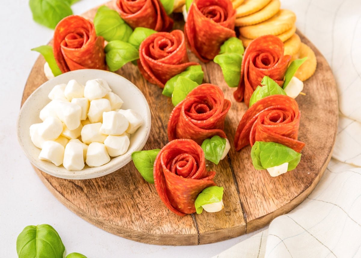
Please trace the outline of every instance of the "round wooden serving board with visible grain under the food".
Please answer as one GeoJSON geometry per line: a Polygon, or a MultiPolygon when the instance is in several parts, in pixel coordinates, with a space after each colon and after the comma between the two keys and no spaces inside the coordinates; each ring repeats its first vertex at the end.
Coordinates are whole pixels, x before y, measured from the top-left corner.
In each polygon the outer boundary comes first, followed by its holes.
{"type": "MultiPolygon", "coordinates": [[[[107,4],[113,7],[112,3],[107,4]]],[[[96,9],[84,17],[93,19],[96,9]]],[[[175,27],[182,29],[181,16],[175,15],[175,27]]],[[[301,40],[317,56],[316,73],[305,81],[306,96],[298,96],[302,112],[299,139],[306,143],[298,167],[278,177],[252,166],[251,148],[236,152],[232,146],[228,157],[218,165],[208,162],[208,170],[217,172],[215,182],[225,188],[225,208],[216,213],[177,216],[158,198],[154,185],[148,184],[130,162],[109,175],[89,180],[66,180],[50,176],[35,168],[47,188],[67,208],[81,218],[115,235],[156,245],[200,245],[226,240],[264,227],[275,217],[301,203],[317,185],[330,161],[334,146],[338,100],[335,80],[325,58],[299,31],[301,40]]],[[[191,61],[198,61],[188,51],[191,61]]],[[[36,60],[26,83],[23,99],[47,79],[43,57],[36,60]]],[[[226,117],[225,131],[234,140],[237,125],[247,107],[235,102],[220,67],[201,63],[204,81],[221,87],[232,102],[226,117]]],[[[117,73],[133,82],[143,92],[152,113],[152,129],[144,150],[162,148],[167,142],[167,124],[173,109],[171,99],[148,83],[138,68],[129,63],[117,73]]]]}

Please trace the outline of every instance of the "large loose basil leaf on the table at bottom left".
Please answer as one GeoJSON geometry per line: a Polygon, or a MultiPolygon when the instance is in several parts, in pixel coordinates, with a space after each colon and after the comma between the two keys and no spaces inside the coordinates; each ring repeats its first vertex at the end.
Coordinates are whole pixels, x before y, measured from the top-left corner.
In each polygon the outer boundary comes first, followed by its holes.
{"type": "Polygon", "coordinates": [[[16,240],[19,258],[63,258],[65,246],[56,230],[48,224],[27,226],[16,240]]]}

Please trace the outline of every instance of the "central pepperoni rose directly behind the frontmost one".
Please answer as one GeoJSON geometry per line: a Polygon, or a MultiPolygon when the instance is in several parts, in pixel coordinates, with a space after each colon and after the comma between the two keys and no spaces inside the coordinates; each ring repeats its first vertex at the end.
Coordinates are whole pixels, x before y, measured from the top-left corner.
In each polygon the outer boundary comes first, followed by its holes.
{"type": "Polygon", "coordinates": [[[215,135],[227,138],[225,118],[231,102],[218,86],[205,83],[193,89],[174,107],[168,121],[168,140],[192,139],[199,145],[215,135]]]}

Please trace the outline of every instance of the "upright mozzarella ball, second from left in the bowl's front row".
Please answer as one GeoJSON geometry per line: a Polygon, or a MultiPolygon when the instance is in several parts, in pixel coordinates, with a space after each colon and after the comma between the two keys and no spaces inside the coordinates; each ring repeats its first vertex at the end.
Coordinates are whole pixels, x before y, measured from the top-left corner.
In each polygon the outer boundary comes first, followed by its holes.
{"type": "Polygon", "coordinates": [[[68,170],[84,168],[83,146],[78,142],[69,142],[65,146],[63,166],[68,170]]]}

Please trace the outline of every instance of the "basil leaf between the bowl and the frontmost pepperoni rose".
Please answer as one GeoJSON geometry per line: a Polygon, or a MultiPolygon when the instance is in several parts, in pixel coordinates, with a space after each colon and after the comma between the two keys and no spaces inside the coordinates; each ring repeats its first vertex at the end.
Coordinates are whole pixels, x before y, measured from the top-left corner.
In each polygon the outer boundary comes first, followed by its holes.
{"type": "Polygon", "coordinates": [[[154,184],[153,167],[159,152],[160,149],[134,151],[132,153],[132,160],[136,169],[138,169],[145,181],[151,184],[154,184]]]}

